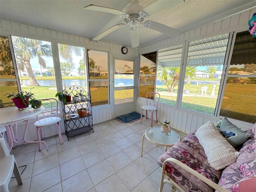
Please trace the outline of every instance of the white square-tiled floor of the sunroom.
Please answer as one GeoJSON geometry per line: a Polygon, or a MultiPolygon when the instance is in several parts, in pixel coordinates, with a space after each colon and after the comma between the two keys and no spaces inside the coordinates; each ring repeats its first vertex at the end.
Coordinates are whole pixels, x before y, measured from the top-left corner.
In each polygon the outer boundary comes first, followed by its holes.
{"type": "MultiPolygon", "coordinates": [[[[154,126],[158,124],[154,121],[154,126]]],[[[14,154],[18,166],[26,165],[22,173],[23,185],[15,178],[10,192],[157,192],[161,168],[157,158],[164,153],[141,138],[150,126],[150,119],[132,123],[110,120],[94,125],[90,131],[69,138],[62,135],[45,139],[49,150],[38,152],[36,144],[18,146],[14,154]]],[[[181,140],[186,134],[176,131],[181,140]]],[[[44,145],[42,145],[44,146],[44,145]]],[[[22,170],[22,168],[20,168],[22,170]]],[[[168,184],[163,191],[171,191],[168,184]]]]}

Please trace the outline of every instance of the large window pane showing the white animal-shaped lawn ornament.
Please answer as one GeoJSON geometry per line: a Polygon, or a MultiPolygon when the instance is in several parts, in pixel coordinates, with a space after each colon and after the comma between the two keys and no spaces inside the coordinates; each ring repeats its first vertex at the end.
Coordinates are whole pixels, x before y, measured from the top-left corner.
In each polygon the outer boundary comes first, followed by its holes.
{"type": "Polygon", "coordinates": [[[228,36],[189,42],[182,108],[214,115],[228,36]]]}

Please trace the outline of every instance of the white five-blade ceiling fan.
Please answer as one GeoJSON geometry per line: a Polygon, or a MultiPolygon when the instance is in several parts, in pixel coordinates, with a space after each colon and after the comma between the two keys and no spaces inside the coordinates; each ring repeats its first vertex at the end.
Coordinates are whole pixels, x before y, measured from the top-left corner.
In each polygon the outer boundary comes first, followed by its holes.
{"type": "Polygon", "coordinates": [[[118,28],[122,28],[126,25],[130,25],[132,27],[130,30],[132,47],[134,48],[134,47],[139,46],[139,33],[138,33],[138,25],[139,24],[143,24],[144,27],[146,27],[146,28],[156,30],[156,31],[166,34],[170,37],[178,35],[180,33],[180,31],[178,31],[174,28],[171,28],[164,24],[160,24],[158,22],[154,22],[154,21],[150,21],[150,20],[145,21],[145,19],[152,14],[155,14],[157,12],[160,12],[162,10],[165,10],[172,6],[176,6],[181,3],[184,3],[184,0],[167,0],[167,1],[166,0],[157,0],[157,1],[153,2],[152,4],[143,8],[143,6],[141,6],[140,2],[134,0],[134,1],[131,1],[124,8],[125,12],[116,10],[116,9],[112,9],[112,8],[108,8],[108,7],[97,6],[97,5],[93,5],[93,4],[90,4],[86,7],[84,7],[84,9],[116,14],[116,15],[122,17],[125,22],[125,24],[123,24],[123,23],[117,24],[117,25],[109,28],[108,30],[102,32],[101,34],[94,36],[92,38],[93,40],[100,40],[101,38],[110,34],[114,30],[116,30],[118,28]]]}

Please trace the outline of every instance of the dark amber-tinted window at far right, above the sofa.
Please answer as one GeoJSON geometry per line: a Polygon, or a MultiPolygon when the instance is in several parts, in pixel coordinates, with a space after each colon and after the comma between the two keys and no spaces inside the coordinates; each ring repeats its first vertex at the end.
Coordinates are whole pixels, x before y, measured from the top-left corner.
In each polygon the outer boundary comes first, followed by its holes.
{"type": "Polygon", "coordinates": [[[256,122],[256,38],[236,34],[220,115],[256,122]]]}

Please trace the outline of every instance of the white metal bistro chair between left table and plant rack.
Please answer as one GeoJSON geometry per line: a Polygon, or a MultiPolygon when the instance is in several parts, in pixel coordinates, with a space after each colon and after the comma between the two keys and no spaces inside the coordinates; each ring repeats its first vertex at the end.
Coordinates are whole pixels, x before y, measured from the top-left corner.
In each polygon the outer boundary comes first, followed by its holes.
{"type": "MultiPolygon", "coordinates": [[[[37,140],[38,141],[42,140],[42,130],[41,130],[42,127],[54,125],[58,129],[60,144],[62,144],[63,140],[62,140],[61,128],[60,128],[61,118],[58,117],[58,100],[54,98],[49,98],[49,99],[41,99],[41,101],[42,101],[42,104],[44,105],[44,108],[46,109],[49,108],[50,110],[45,110],[43,112],[43,115],[44,115],[43,119],[40,119],[38,116],[36,117],[38,121],[34,123],[34,126],[36,126],[37,140]],[[55,104],[56,104],[56,108],[54,107],[55,104]]],[[[48,150],[46,142],[44,142],[44,144],[46,146],[46,150],[48,150]]],[[[38,151],[41,151],[41,142],[38,143],[38,151]]]]}

